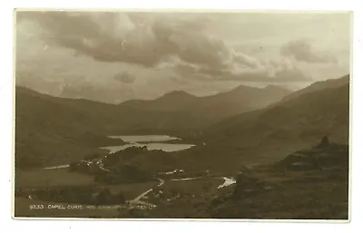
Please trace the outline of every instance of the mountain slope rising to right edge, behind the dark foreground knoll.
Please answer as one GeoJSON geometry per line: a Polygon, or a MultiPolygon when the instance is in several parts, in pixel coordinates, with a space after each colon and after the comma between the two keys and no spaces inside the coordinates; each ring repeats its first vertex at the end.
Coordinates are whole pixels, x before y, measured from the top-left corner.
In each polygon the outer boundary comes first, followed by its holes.
{"type": "Polygon", "coordinates": [[[230,141],[246,142],[253,138],[257,141],[267,138],[317,140],[321,134],[327,134],[347,143],[348,81],[348,76],[344,76],[313,83],[265,109],[226,118],[207,129],[205,136],[217,138],[222,135],[230,141]]]}

